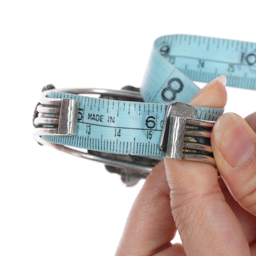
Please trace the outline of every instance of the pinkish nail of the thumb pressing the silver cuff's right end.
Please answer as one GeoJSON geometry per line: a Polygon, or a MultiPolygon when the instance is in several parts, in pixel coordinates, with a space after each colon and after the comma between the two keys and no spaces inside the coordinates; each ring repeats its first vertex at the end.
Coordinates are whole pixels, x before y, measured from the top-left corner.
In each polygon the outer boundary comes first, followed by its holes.
{"type": "Polygon", "coordinates": [[[235,114],[227,113],[214,125],[213,146],[232,167],[243,166],[255,154],[255,143],[247,127],[235,114]]]}

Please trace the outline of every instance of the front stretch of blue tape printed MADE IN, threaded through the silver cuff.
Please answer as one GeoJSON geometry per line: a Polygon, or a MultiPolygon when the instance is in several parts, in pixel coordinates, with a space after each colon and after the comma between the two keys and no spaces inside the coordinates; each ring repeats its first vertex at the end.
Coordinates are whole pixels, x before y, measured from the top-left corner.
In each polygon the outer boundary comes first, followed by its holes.
{"type": "MultiPolygon", "coordinates": [[[[164,123],[166,104],[114,101],[56,92],[51,92],[48,96],[77,99],[79,101],[79,120],[76,136],[44,136],[46,141],[115,154],[154,157],[164,155],[158,144],[164,123]],[[81,143],[81,141],[83,142],[81,143]]],[[[204,114],[205,119],[216,120],[223,110],[198,108],[197,111],[199,117],[204,114]]]]}

